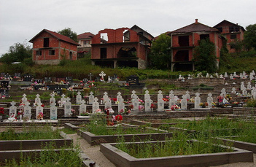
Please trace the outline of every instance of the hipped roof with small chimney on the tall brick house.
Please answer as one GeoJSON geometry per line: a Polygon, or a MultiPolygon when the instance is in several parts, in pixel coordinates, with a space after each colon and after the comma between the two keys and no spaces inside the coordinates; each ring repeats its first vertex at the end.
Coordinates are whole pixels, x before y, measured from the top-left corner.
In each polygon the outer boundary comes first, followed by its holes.
{"type": "Polygon", "coordinates": [[[191,32],[197,32],[197,31],[218,31],[218,30],[217,30],[217,28],[212,28],[210,26],[206,26],[206,25],[196,21],[195,23],[192,23],[188,26],[179,28],[175,31],[171,31],[171,34],[191,33],[191,32]]]}

